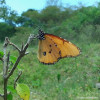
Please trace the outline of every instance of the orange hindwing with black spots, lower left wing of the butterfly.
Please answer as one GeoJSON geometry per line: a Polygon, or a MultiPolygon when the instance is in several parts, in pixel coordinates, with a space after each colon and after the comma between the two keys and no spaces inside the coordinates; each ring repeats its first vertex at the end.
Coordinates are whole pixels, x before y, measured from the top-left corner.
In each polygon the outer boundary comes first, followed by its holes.
{"type": "Polygon", "coordinates": [[[53,64],[61,57],[61,51],[55,43],[47,36],[39,40],[38,59],[44,64],[53,64]]]}

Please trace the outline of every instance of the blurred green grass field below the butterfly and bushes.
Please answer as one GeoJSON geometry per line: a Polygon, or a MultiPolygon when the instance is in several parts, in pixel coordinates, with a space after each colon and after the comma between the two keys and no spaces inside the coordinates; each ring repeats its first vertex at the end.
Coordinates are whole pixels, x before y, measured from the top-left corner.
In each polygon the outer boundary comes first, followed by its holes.
{"type": "MultiPolygon", "coordinates": [[[[28,49],[30,54],[20,62],[23,74],[18,82],[30,87],[30,100],[77,100],[80,97],[100,99],[100,90],[95,86],[100,82],[100,43],[80,43],[79,47],[82,50],[80,56],[61,59],[55,65],[39,63],[37,46],[28,49]]],[[[18,55],[15,50],[11,53],[18,55]]],[[[13,84],[17,74],[17,71],[14,72],[9,84],[13,84]]],[[[0,64],[1,92],[3,92],[2,64],[0,64]]],[[[20,100],[17,95],[14,95],[14,100],[16,98],[20,100]]]]}

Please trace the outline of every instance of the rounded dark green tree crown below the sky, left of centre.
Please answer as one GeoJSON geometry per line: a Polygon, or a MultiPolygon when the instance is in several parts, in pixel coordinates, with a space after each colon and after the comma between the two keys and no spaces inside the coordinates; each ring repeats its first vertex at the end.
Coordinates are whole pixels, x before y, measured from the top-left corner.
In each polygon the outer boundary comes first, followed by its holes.
{"type": "Polygon", "coordinates": [[[37,10],[29,9],[26,12],[23,12],[21,16],[18,17],[16,23],[25,27],[34,27],[40,22],[40,15],[37,10]]]}

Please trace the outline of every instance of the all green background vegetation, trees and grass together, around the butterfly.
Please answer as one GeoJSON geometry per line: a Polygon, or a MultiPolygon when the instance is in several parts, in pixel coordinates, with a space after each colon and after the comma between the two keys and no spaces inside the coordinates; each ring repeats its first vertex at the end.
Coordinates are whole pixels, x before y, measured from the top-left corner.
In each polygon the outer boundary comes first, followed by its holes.
{"type": "MultiPolygon", "coordinates": [[[[0,23],[0,51],[5,36],[11,37],[11,41],[19,45],[27,40],[29,34],[37,34],[38,27],[46,33],[70,40],[82,51],[76,58],[64,58],[55,65],[43,65],[37,59],[38,43],[34,40],[28,49],[30,53],[20,62],[23,74],[18,81],[30,87],[30,100],[78,100],[78,97],[100,99],[100,90],[96,88],[96,83],[100,82],[100,3],[98,6],[80,6],[76,10],[53,5],[40,12],[29,9],[21,16],[7,6],[1,8],[7,10],[2,10],[2,13],[6,12],[5,17],[0,16],[5,20],[0,23]],[[12,13],[9,15],[7,11],[12,13]]],[[[9,49],[12,55],[18,55],[13,48],[9,49]]],[[[9,85],[12,85],[17,74],[16,71],[9,85]]],[[[3,93],[2,62],[0,93],[3,93]]],[[[15,94],[14,98],[20,100],[15,94]]]]}

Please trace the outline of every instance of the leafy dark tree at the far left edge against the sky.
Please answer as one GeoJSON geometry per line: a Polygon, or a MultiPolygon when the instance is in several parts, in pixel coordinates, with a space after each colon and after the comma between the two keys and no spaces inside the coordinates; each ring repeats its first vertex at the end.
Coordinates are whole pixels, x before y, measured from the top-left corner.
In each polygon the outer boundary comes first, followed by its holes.
{"type": "Polygon", "coordinates": [[[11,37],[16,32],[17,19],[17,13],[6,5],[5,0],[0,1],[0,19],[3,21],[0,23],[0,41],[3,41],[6,36],[11,37]]]}

